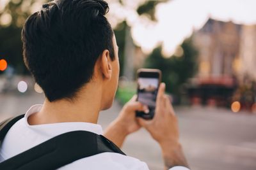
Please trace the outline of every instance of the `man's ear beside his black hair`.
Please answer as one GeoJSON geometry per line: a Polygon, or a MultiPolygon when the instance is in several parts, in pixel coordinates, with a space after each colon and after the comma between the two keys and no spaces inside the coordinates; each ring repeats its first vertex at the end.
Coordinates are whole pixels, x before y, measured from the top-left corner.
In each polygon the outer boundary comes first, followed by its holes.
{"type": "Polygon", "coordinates": [[[111,66],[111,59],[109,55],[109,50],[104,50],[100,57],[101,60],[101,71],[104,78],[110,79],[112,75],[112,66],[111,66]]]}

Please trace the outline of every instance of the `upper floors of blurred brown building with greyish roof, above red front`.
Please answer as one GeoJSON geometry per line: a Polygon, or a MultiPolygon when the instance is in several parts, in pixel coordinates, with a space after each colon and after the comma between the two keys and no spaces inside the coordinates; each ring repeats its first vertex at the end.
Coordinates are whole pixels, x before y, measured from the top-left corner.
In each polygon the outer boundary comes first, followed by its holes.
{"type": "Polygon", "coordinates": [[[237,72],[241,25],[209,19],[195,32],[193,41],[199,50],[200,78],[232,77],[237,72]]]}

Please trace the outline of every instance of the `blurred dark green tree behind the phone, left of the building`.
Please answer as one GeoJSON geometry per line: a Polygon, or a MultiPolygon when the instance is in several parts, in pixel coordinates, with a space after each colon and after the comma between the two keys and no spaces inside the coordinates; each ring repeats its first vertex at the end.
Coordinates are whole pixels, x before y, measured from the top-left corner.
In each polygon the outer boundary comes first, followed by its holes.
{"type": "Polygon", "coordinates": [[[145,67],[161,69],[163,73],[162,80],[166,83],[166,91],[178,98],[182,84],[186,83],[188,78],[193,77],[196,73],[198,55],[191,38],[186,39],[181,48],[183,54],[180,57],[174,54],[169,58],[164,58],[161,54],[161,46],[159,46],[145,61],[145,67]]]}

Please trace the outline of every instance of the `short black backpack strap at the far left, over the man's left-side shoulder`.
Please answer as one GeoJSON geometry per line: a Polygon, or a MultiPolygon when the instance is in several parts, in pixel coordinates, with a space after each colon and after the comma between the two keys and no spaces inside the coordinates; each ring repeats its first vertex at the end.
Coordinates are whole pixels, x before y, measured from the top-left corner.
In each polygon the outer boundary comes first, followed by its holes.
{"type": "Polygon", "coordinates": [[[11,117],[0,123],[0,143],[3,141],[4,136],[6,136],[7,132],[12,127],[12,125],[14,125],[18,120],[20,120],[23,117],[24,115],[11,117]]]}

